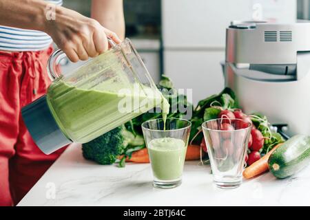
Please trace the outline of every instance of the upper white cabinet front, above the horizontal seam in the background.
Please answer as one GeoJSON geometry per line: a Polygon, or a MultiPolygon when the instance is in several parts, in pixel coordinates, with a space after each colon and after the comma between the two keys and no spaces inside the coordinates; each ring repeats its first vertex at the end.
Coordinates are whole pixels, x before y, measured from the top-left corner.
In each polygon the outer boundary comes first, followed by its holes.
{"type": "Polygon", "coordinates": [[[296,20],[295,0],[162,0],[163,46],[225,47],[230,21],[296,20]]]}

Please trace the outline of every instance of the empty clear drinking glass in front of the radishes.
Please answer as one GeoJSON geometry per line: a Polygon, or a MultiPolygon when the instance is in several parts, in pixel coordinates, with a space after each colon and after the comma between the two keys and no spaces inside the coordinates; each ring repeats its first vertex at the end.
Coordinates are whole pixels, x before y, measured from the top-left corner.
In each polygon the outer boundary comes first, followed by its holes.
{"type": "Polygon", "coordinates": [[[236,188],[251,133],[251,122],[242,119],[214,119],[203,123],[214,183],[219,188],[236,188]]]}

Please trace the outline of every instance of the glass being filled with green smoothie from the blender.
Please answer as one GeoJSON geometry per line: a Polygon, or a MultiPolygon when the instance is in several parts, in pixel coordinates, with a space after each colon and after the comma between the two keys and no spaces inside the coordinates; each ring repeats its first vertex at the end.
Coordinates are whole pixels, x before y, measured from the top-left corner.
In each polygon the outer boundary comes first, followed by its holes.
{"type": "Polygon", "coordinates": [[[191,122],[177,118],[154,119],[142,124],[154,187],[174,188],[182,183],[190,129],[191,122]]]}

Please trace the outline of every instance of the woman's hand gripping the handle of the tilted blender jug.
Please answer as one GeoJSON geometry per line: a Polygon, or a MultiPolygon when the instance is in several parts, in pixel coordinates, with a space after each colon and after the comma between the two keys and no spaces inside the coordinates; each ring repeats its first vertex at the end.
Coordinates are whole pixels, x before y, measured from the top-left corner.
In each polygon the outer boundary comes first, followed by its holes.
{"type": "Polygon", "coordinates": [[[65,8],[59,19],[48,23],[46,32],[72,62],[79,59],[85,61],[108,50],[107,37],[115,43],[121,43],[114,32],[104,28],[98,21],[65,8]]]}

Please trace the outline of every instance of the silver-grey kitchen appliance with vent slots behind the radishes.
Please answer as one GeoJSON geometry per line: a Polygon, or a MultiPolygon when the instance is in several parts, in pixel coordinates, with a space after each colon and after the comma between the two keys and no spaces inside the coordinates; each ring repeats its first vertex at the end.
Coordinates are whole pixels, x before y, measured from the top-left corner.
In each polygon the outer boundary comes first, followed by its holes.
{"type": "Polygon", "coordinates": [[[310,23],[232,22],[225,85],[246,113],[260,112],[287,134],[310,135],[310,23]]]}

